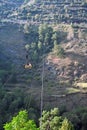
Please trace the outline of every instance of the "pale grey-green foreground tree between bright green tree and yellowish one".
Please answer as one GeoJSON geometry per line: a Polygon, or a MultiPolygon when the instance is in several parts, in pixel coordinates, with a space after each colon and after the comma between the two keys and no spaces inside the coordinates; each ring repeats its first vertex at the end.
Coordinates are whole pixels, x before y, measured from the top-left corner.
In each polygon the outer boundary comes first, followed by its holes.
{"type": "Polygon", "coordinates": [[[51,111],[43,111],[42,118],[40,119],[41,129],[42,130],[59,130],[62,118],[58,116],[59,111],[57,108],[54,108],[51,111]]]}

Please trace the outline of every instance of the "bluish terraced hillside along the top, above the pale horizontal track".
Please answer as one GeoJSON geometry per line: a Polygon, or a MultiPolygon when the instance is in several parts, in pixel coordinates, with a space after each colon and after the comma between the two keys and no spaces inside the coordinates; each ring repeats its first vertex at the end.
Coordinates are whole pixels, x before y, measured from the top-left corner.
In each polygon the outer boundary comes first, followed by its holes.
{"type": "MultiPolygon", "coordinates": [[[[29,23],[84,23],[87,22],[85,0],[37,0],[22,4],[16,10],[18,19],[29,23]]],[[[16,16],[13,15],[13,18],[16,16]]]]}

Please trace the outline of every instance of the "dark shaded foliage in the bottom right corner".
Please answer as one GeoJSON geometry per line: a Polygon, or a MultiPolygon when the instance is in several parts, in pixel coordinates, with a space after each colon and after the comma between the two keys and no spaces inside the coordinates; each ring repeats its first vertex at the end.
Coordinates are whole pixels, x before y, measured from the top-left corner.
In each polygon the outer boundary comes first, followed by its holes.
{"type": "Polygon", "coordinates": [[[74,125],[75,130],[87,129],[87,107],[77,108],[65,114],[74,125]]]}

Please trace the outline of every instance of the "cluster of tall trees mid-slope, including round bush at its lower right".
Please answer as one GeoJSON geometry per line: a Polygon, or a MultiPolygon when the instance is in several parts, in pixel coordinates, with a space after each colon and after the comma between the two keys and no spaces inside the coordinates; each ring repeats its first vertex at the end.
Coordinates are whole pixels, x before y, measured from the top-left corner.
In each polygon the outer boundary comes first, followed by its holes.
{"type": "MultiPolygon", "coordinates": [[[[51,52],[54,47],[54,53],[61,58],[64,57],[64,49],[59,45],[62,42],[62,31],[54,31],[53,27],[47,24],[41,24],[39,27],[34,25],[27,25],[27,31],[24,25],[25,45],[26,50],[31,57],[30,61],[37,63],[40,61],[41,55],[51,52]],[[33,36],[33,37],[32,37],[33,36]]],[[[63,34],[64,35],[64,34],[63,34]]],[[[66,37],[66,35],[64,35],[66,37]]]]}

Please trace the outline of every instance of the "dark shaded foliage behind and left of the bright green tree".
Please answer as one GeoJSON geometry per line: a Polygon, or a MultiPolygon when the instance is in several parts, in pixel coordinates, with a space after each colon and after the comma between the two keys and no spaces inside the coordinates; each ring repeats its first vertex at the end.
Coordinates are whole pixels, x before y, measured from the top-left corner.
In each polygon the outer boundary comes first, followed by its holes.
{"type": "Polygon", "coordinates": [[[2,88],[0,86],[0,130],[2,130],[3,123],[9,121],[20,109],[26,108],[28,112],[30,112],[30,119],[35,119],[35,121],[37,121],[39,116],[37,105],[34,99],[30,98],[29,95],[25,95],[22,89],[7,93],[3,86],[2,88]],[[32,112],[30,108],[33,108],[32,112]]]}

